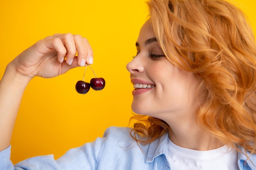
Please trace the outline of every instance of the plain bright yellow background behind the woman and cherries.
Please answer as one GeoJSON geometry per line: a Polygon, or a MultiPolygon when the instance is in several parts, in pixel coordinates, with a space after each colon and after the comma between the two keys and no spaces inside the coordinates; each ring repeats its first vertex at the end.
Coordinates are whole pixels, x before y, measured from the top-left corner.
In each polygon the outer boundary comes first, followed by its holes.
{"type": "MultiPolygon", "coordinates": [[[[256,32],[256,2],[236,0],[256,32]]],[[[101,137],[109,126],[128,126],[132,85],[126,63],[147,16],[145,0],[1,0],[0,76],[21,51],[54,33],[81,34],[94,50],[92,68],[106,79],[102,91],[75,91],[84,67],[28,85],[11,141],[11,160],[54,154],[101,137]]],[[[88,69],[85,81],[93,77],[88,69]]]]}

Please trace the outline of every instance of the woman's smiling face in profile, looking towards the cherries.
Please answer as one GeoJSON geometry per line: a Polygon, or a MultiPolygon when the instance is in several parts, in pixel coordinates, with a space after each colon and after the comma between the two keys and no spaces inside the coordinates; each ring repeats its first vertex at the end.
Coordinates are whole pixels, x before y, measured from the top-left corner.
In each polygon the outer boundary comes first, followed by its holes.
{"type": "Polygon", "coordinates": [[[132,110],[163,120],[174,113],[194,112],[199,81],[167,60],[148,21],[141,28],[136,48],[136,57],[126,66],[135,86],[132,110]]]}

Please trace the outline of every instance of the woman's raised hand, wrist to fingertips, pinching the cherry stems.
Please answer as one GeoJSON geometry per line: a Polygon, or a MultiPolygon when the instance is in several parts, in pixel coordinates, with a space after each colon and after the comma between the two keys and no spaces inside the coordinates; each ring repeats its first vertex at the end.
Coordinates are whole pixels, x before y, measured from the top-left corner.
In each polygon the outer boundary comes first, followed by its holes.
{"type": "Polygon", "coordinates": [[[71,68],[92,64],[92,60],[89,42],[81,35],[67,33],[55,34],[36,42],[10,64],[19,75],[32,79],[35,76],[56,77],[71,68]]]}

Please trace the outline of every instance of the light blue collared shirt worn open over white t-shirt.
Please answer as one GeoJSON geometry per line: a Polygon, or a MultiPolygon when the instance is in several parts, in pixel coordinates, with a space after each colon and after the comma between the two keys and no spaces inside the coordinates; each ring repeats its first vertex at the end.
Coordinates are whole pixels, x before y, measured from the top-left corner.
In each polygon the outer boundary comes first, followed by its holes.
{"type": "MultiPolygon", "coordinates": [[[[129,132],[130,128],[110,127],[102,138],[70,149],[57,160],[53,155],[39,156],[14,166],[9,146],[0,152],[0,170],[171,170],[165,157],[167,133],[150,144],[138,145],[129,132]]],[[[246,159],[238,153],[240,170],[256,170],[256,155],[250,157],[253,163],[246,159]]]]}

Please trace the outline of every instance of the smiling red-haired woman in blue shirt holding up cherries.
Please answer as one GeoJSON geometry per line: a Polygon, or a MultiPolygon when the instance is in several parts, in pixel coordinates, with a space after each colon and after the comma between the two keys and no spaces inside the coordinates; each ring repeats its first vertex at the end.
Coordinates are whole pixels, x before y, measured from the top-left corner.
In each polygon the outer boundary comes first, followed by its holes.
{"type": "Polygon", "coordinates": [[[2,77],[1,169],[256,170],[256,44],[243,13],[222,0],[148,6],[137,55],[127,64],[132,110],[148,117],[134,117],[132,129],[108,128],[57,160],[35,157],[13,167],[9,141],[27,83],[92,64],[85,38],[49,36],[18,55],[2,77]]]}

